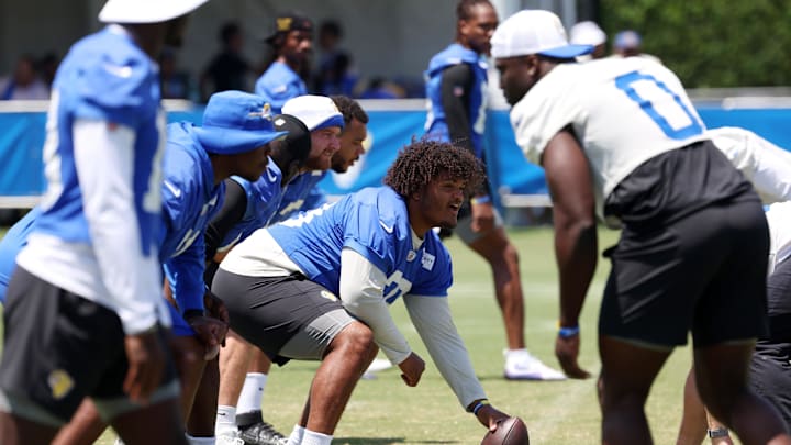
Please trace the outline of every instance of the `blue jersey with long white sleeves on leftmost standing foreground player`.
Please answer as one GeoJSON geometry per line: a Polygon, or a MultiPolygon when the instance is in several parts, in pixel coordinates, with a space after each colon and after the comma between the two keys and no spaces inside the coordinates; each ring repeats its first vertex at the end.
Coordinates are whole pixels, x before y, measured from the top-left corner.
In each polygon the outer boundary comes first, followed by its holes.
{"type": "Polygon", "coordinates": [[[166,123],[158,74],[118,25],[73,46],[47,116],[42,214],[16,258],[115,311],[126,334],[169,324],[157,243],[166,123]]]}

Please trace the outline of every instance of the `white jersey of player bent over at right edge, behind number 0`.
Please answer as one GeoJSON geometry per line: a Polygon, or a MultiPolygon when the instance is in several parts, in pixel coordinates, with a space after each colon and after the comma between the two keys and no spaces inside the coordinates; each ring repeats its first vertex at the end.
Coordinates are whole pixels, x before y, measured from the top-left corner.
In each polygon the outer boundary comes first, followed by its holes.
{"type": "Polygon", "coordinates": [[[753,182],[765,204],[791,201],[791,153],[749,130],[709,130],[714,145],[753,182]]]}

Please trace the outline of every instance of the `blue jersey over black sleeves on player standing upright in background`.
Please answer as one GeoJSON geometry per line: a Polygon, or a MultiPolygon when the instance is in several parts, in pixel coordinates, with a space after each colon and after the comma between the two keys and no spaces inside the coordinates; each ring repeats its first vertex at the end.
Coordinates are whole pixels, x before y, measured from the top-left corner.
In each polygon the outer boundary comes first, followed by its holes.
{"type": "Polygon", "coordinates": [[[478,158],[482,158],[483,132],[486,130],[487,64],[478,53],[465,48],[458,43],[452,44],[432,57],[428,69],[424,73],[426,98],[428,100],[425,131],[431,137],[443,142],[452,142],[442,100],[442,80],[445,69],[458,64],[469,65],[475,76],[472,88],[469,91],[467,118],[471,125],[469,135],[475,154],[478,158]]]}

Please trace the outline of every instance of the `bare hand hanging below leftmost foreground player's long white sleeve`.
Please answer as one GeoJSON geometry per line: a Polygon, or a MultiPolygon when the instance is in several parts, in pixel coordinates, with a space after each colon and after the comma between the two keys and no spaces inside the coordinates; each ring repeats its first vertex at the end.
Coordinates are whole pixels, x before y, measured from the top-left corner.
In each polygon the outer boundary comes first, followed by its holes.
{"type": "Polygon", "coordinates": [[[135,402],[146,403],[159,387],[166,355],[159,342],[158,327],[124,337],[129,369],[123,390],[135,402]]]}

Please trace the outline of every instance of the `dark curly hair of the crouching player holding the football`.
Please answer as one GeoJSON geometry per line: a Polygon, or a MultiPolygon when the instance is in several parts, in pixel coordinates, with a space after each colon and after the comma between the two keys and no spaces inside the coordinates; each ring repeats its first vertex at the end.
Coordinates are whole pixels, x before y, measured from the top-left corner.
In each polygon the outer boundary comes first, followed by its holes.
{"type": "Polygon", "coordinates": [[[385,176],[385,185],[402,197],[423,190],[441,174],[465,181],[469,196],[486,180],[483,164],[468,149],[447,142],[428,138],[412,140],[401,148],[398,158],[385,176]]]}

